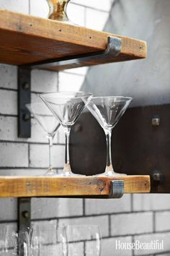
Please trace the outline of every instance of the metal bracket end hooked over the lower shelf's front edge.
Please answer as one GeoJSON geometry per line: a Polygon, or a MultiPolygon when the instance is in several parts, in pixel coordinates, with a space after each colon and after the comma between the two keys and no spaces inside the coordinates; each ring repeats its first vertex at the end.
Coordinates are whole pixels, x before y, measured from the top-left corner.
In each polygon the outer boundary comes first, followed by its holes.
{"type": "Polygon", "coordinates": [[[124,195],[125,182],[122,180],[114,180],[110,182],[110,198],[121,198],[124,195]]]}

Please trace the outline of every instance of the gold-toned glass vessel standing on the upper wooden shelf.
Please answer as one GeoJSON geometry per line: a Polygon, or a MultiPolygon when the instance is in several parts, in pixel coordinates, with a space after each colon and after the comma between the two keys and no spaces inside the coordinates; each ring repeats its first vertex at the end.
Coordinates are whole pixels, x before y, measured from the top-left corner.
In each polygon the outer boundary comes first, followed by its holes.
{"type": "Polygon", "coordinates": [[[69,22],[66,14],[66,8],[69,1],[70,0],[48,0],[48,5],[50,7],[48,19],[69,22]]]}

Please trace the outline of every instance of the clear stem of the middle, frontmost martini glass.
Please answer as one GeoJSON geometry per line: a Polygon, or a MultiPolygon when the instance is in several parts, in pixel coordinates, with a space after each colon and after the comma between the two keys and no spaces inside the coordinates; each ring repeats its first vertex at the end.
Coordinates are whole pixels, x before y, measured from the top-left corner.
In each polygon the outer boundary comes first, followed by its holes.
{"type": "Polygon", "coordinates": [[[65,165],[64,165],[64,171],[65,173],[71,172],[71,166],[70,166],[70,155],[69,155],[69,137],[70,137],[71,128],[65,127],[64,133],[66,137],[66,153],[65,153],[65,165]]]}

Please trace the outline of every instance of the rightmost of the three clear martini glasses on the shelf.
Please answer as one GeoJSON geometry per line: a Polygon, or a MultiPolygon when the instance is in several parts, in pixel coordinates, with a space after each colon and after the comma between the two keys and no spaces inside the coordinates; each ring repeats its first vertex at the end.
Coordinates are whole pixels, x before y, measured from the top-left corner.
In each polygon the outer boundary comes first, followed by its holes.
{"type": "Polygon", "coordinates": [[[120,120],[121,116],[125,113],[131,101],[132,98],[121,96],[94,97],[91,98],[91,101],[87,106],[91,114],[95,117],[95,119],[97,119],[101,127],[104,129],[107,140],[107,166],[104,173],[99,175],[113,176],[117,174],[112,166],[112,129],[120,120]]]}

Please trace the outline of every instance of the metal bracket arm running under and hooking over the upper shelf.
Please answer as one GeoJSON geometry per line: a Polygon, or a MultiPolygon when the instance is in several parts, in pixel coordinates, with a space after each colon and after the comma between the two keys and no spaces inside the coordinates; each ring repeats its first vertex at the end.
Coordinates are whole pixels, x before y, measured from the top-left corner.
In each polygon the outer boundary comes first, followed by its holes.
{"type": "Polygon", "coordinates": [[[68,68],[76,68],[76,67],[86,67],[90,64],[102,64],[104,63],[104,59],[112,59],[115,56],[118,56],[121,51],[122,41],[120,38],[108,37],[107,38],[107,48],[105,51],[88,54],[86,56],[73,56],[72,58],[64,58],[64,59],[53,59],[48,61],[42,61],[37,64],[32,65],[32,69],[48,69],[53,67],[59,67],[59,69],[68,69],[68,68]]]}

